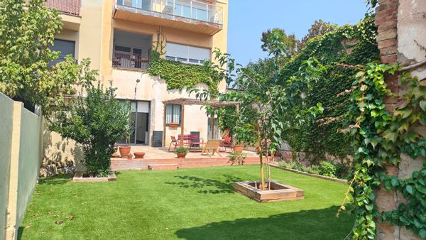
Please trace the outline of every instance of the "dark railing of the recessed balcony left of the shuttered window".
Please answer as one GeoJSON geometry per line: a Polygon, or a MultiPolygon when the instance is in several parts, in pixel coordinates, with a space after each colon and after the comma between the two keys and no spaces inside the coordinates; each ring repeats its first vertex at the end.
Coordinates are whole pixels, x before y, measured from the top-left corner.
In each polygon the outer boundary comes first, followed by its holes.
{"type": "Polygon", "coordinates": [[[148,56],[114,51],[112,67],[130,70],[147,70],[149,67],[148,56]]]}

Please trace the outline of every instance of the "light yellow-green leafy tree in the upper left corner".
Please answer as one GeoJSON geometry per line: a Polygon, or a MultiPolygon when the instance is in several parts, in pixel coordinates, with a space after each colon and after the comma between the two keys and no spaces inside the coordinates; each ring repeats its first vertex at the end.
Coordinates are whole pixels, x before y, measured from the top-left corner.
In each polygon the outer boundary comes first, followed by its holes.
{"type": "Polygon", "coordinates": [[[58,11],[43,0],[0,1],[0,91],[39,105],[45,114],[75,92],[79,67],[72,58],[50,66],[59,52],[49,49],[62,30],[58,11]]]}

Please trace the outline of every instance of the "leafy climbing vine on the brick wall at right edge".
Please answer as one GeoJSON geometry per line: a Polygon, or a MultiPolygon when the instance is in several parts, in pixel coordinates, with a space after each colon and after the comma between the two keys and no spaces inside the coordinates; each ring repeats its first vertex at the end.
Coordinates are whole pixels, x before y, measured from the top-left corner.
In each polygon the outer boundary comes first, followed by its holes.
{"type": "Polygon", "coordinates": [[[347,119],[354,122],[344,129],[352,136],[355,151],[349,187],[356,216],[353,238],[374,239],[375,217],[426,238],[426,161],[411,178],[401,180],[386,175],[386,165],[398,165],[401,154],[426,159],[426,138],[416,131],[426,125],[426,84],[404,73],[400,80],[408,91],[396,96],[388,89],[385,76],[395,74],[398,65],[369,63],[365,67],[349,67],[359,70],[354,86],[345,91],[351,95],[347,119]],[[384,100],[389,97],[397,102],[393,111],[386,109],[384,100]],[[386,190],[402,192],[407,202],[394,211],[378,212],[373,190],[381,182],[386,190]]]}

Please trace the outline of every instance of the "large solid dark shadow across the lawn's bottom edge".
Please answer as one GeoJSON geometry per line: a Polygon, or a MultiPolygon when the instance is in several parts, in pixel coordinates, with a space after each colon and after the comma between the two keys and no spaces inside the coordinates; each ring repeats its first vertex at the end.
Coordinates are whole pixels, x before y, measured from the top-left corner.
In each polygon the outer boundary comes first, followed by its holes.
{"type": "MultiPolygon", "coordinates": [[[[262,203],[265,204],[265,203],[262,203]]],[[[267,203],[266,203],[267,204],[267,203]]],[[[290,212],[270,217],[213,222],[175,232],[182,239],[344,239],[351,232],[353,217],[338,207],[290,212]]]]}

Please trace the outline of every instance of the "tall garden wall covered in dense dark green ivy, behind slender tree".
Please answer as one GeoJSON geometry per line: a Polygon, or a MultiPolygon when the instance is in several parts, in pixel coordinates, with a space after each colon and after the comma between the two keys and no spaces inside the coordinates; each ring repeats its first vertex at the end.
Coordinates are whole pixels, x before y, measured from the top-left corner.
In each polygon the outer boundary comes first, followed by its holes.
{"type": "Polygon", "coordinates": [[[345,158],[351,153],[349,137],[341,132],[347,126],[344,114],[349,109],[349,97],[340,94],[350,89],[356,80],[356,70],[342,65],[364,65],[378,60],[376,27],[373,16],[355,26],[342,26],[337,31],[310,40],[306,47],[280,72],[285,81],[295,75],[302,62],[317,58],[327,67],[327,73],[310,89],[305,89],[308,106],[322,103],[324,112],[316,121],[287,133],[286,141],[293,151],[310,153],[310,158],[323,160],[328,156],[345,158]]]}

